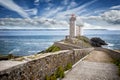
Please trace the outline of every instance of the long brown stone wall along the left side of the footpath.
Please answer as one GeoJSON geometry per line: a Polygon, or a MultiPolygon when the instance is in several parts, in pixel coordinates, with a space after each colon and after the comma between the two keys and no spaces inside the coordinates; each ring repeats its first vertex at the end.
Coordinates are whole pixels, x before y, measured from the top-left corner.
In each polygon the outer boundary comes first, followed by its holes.
{"type": "Polygon", "coordinates": [[[46,56],[44,57],[0,71],[0,80],[44,80],[46,75],[53,74],[59,66],[64,67],[68,63],[74,64],[93,49],[86,48],[45,53],[46,56]]]}

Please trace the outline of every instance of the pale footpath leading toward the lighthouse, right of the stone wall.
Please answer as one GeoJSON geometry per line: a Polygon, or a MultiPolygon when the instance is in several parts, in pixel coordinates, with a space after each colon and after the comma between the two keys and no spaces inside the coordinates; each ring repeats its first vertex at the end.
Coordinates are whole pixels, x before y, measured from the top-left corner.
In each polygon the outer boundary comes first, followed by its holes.
{"type": "Polygon", "coordinates": [[[108,53],[97,48],[82,61],[79,61],[62,80],[120,80],[118,67],[108,53]]]}

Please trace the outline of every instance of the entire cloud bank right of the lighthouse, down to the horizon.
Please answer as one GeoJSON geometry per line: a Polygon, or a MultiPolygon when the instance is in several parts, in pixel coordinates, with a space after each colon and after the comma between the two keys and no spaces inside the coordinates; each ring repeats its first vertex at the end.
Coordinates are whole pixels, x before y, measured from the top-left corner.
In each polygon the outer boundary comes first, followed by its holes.
{"type": "Polygon", "coordinates": [[[109,10],[98,16],[81,16],[80,18],[85,22],[85,28],[120,30],[120,10],[109,10]]]}

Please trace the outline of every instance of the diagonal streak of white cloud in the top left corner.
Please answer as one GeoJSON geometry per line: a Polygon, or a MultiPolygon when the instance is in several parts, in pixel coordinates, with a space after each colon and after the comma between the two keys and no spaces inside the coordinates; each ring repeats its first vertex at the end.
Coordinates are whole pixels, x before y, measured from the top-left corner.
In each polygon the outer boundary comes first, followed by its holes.
{"type": "Polygon", "coordinates": [[[0,0],[0,5],[17,12],[24,18],[29,18],[29,15],[24,11],[24,9],[14,3],[13,0],[0,0]]]}

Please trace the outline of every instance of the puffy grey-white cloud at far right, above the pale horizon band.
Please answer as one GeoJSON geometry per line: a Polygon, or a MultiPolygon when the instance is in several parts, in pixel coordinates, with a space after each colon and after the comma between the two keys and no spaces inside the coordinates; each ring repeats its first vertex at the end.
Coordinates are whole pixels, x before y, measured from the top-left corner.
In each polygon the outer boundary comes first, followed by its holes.
{"type": "Polygon", "coordinates": [[[82,16],[87,22],[120,25],[120,10],[109,10],[98,16],[82,16]]]}

